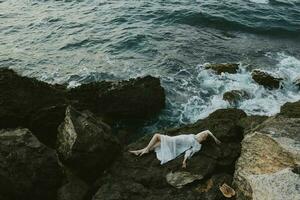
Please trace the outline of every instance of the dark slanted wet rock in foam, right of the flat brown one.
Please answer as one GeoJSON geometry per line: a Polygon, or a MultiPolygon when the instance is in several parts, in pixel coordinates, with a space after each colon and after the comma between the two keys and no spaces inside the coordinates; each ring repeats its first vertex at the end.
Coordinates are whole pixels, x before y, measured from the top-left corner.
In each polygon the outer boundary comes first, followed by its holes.
{"type": "Polygon", "coordinates": [[[268,72],[255,69],[251,73],[252,79],[268,89],[278,89],[282,78],[272,76],[268,72]]]}

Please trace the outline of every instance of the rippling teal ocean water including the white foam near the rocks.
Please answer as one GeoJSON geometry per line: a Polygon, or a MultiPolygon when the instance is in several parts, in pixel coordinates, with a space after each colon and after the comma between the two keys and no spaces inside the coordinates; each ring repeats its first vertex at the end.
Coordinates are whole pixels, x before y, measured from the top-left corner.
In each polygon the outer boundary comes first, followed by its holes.
{"type": "Polygon", "coordinates": [[[0,67],[69,87],[153,75],[167,106],[145,132],[192,123],[232,107],[224,92],[251,98],[236,107],[273,115],[300,99],[300,0],[0,0],[0,67]],[[206,63],[237,62],[216,75],[206,63]],[[284,78],[267,90],[252,69],[284,78]]]}

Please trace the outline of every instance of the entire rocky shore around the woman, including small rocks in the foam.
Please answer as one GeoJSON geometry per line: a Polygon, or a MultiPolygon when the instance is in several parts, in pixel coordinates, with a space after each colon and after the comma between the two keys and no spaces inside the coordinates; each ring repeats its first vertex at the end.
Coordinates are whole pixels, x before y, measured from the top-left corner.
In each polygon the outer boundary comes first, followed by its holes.
{"type": "MultiPolygon", "coordinates": [[[[238,65],[207,69],[235,73],[238,65]]],[[[280,88],[280,78],[252,75],[266,88],[280,88]]],[[[232,105],[242,98],[243,91],[224,96],[232,105]]],[[[275,116],[219,109],[160,131],[209,129],[222,141],[205,142],[186,169],[182,157],[160,165],[154,153],[128,153],[152,134],[127,144],[124,137],[134,133],[113,130],[120,120],[151,119],[164,106],[164,89],[152,76],[68,89],[0,69],[0,200],[219,200],[227,199],[223,183],[236,191],[230,199],[300,199],[300,101],[275,116]]]]}

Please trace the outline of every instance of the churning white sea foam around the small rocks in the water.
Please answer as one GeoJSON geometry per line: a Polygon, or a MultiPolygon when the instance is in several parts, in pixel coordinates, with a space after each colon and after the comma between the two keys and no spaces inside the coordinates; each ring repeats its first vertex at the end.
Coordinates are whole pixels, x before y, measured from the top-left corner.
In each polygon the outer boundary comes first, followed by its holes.
{"type": "MultiPolygon", "coordinates": [[[[181,70],[174,77],[162,78],[167,89],[167,109],[161,119],[172,119],[181,124],[192,123],[207,117],[220,108],[236,107],[248,115],[274,115],[286,102],[300,99],[298,88],[293,82],[300,78],[300,60],[284,53],[266,54],[272,56],[277,64],[268,72],[283,78],[282,88],[269,90],[257,84],[251,77],[247,65],[240,63],[236,74],[215,74],[198,65],[194,72],[181,70]],[[241,100],[237,105],[230,105],[223,100],[223,94],[230,90],[244,90],[249,99],[241,100]]],[[[257,67],[259,68],[259,66],[257,67]]]]}

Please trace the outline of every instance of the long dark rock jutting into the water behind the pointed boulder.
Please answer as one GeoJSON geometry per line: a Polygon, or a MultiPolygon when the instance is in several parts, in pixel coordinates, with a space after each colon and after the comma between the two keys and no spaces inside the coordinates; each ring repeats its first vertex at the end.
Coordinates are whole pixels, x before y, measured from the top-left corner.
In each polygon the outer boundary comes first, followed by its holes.
{"type": "Polygon", "coordinates": [[[69,91],[73,105],[113,119],[148,118],[165,106],[158,78],[146,76],[122,82],[93,82],[69,91]]]}

